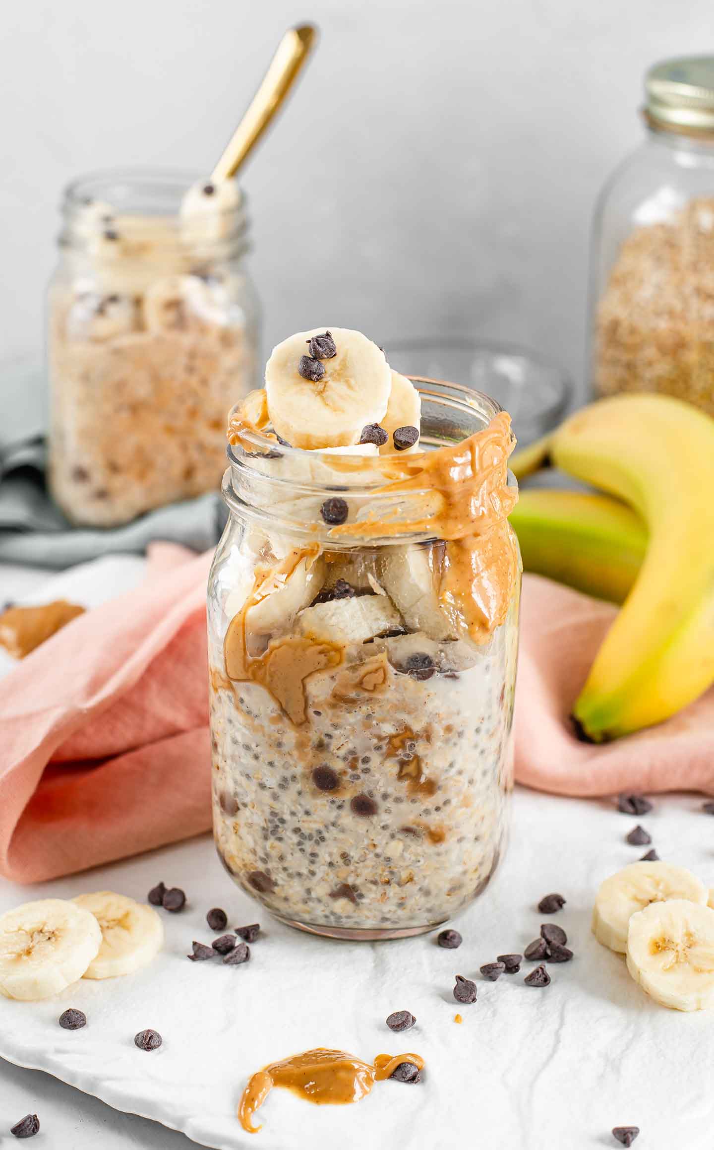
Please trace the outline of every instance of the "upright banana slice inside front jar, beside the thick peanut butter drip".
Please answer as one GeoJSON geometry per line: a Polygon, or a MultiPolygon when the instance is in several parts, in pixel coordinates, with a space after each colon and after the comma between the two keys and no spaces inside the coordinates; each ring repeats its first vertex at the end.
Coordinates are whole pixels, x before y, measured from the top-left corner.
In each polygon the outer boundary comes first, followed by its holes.
{"type": "Polygon", "coordinates": [[[437,642],[456,638],[439,606],[438,558],[435,546],[387,547],[377,572],[407,627],[437,642]]]}

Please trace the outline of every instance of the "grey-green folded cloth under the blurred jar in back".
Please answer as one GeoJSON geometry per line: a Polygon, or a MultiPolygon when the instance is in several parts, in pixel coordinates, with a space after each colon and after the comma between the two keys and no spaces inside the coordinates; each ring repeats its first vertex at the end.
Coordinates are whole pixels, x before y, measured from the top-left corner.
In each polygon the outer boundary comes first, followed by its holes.
{"type": "Polygon", "coordinates": [[[77,528],[45,485],[46,443],[40,434],[0,448],[0,562],[63,569],[107,554],[143,554],[156,539],[193,551],[215,546],[225,523],[217,491],[147,512],[114,528],[77,528]]]}

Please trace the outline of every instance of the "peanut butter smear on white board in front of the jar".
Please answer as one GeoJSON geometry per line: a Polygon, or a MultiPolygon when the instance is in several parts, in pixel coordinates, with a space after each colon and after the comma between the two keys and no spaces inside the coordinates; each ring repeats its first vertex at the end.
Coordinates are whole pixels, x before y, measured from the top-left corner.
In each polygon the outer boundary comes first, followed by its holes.
{"type": "Polygon", "coordinates": [[[345,1106],[360,1102],[375,1082],[387,1079],[401,1063],[414,1063],[420,1071],[424,1067],[420,1055],[377,1055],[370,1066],[344,1050],[325,1050],[322,1046],[306,1050],[271,1063],[253,1074],[243,1091],[238,1119],[244,1130],[258,1134],[262,1126],[253,1126],[253,1116],[274,1086],[285,1087],[317,1106],[345,1106]]]}

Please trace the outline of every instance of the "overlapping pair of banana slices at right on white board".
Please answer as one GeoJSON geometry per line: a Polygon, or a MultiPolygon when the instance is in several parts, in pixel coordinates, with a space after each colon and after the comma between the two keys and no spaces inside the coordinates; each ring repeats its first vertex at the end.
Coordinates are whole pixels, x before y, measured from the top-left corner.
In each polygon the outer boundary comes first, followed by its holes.
{"type": "Polygon", "coordinates": [[[671,1010],[714,1006],[714,910],[684,867],[632,862],[606,879],[596,898],[598,942],[627,956],[645,994],[671,1010]]]}

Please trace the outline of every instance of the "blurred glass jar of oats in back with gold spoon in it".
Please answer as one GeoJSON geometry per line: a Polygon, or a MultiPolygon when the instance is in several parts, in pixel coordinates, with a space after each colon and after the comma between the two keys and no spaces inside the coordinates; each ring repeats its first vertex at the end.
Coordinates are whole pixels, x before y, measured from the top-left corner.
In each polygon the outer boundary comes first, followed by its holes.
{"type": "Polygon", "coordinates": [[[62,215],[49,484],[72,522],[114,527],[220,486],[256,363],[245,201],[233,181],[115,171],[71,184],[62,215]]]}

